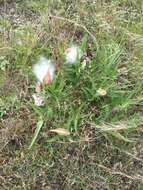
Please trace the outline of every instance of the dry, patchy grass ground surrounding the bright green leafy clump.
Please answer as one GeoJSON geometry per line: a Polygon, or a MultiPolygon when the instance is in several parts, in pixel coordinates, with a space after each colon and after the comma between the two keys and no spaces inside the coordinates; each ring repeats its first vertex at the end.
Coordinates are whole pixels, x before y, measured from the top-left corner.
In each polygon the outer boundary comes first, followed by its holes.
{"type": "MultiPolygon", "coordinates": [[[[5,72],[0,71],[0,103],[4,102],[0,104],[0,189],[143,189],[142,102],[138,101],[143,85],[139,4],[127,0],[108,3],[80,0],[51,3],[50,6],[48,1],[45,5],[36,1],[2,5],[0,50],[13,64],[8,65],[5,72]],[[20,29],[21,25],[32,26],[32,29],[20,29]],[[16,36],[15,29],[21,31],[20,36],[16,36]],[[121,60],[130,68],[127,76],[130,88],[139,85],[133,97],[136,103],[127,108],[125,105],[123,110],[114,108],[111,117],[116,116],[113,118],[120,121],[103,122],[104,125],[89,121],[92,114],[98,115],[102,110],[89,104],[86,113],[90,117],[88,121],[80,120],[82,127],[78,135],[49,143],[47,139],[53,136],[47,126],[57,119],[52,118],[45,123],[36,144],[28,150],[39,118],[27,104],[32,102],[34,84],[31,66],[39,54],[45,53],[56,62],[57,68],[62,67],[63,51],[69,41],[80,44],[85,34],[87,54],[91,58],[96,57],[98,51],[102,57],[102,50],[109,42],[123,47],[121,60]],[[27,44],[20,47],[22,51],[15,45],[18,37],[27,44]],[[32,39],[30,43],[29,39],[32,39]],[[123,117],[126,118],[121,120],[123,117]]],[[[98,62],[98,57],[96,59],[98,62]]],[[[120,78],[127,77],[121,74],[120,78]]],[[[59,124],[64,125],[64,122],[61,118],[59,124]]]]}

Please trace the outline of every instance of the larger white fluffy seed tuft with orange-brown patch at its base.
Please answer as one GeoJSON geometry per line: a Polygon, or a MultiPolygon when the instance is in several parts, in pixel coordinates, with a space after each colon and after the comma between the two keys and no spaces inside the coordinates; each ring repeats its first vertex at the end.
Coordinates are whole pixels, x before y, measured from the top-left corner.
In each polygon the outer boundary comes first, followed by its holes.
{"type": "Polygon", "coordinates": [[[50,59],[40,56],[33,66],[33,72],[41,83],[50,84],[55,75],[55,67],[50,59]]]}

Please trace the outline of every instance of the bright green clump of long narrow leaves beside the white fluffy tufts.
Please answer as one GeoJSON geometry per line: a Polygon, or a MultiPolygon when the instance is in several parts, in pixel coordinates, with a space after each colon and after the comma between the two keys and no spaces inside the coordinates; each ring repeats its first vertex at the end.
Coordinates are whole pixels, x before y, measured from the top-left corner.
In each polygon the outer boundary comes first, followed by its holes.
{"type": "MultiPolygon", "coordinates": [[[[51,127],[47,125],[49,131],[55,127],[63,127],[68,129],[71,135],[80,136],[81,128],[91,122],[102,125],[105,122],[114,123],[124,119],[126,110],[135,102],[131,100],[134,95],[133,86],[127,76],[118,71],[121,53],[122,50],[117,44],[105,45],[97,52],[96,57],[87,61],[84,69],[77,59],[75,64],[65,65],[58,70],[51,86],[45,88],[45,107],[33,107],[42,117],[45,127],[46,123],[50,123],[51,127]],[[104,89],[105,95],[100,96],[99,89],[104,89]],[[114,107],[120,108],[118,117],[112,112],[114,107]]],[[[127,140],[119,132],[109,133],[127,140]]]]}

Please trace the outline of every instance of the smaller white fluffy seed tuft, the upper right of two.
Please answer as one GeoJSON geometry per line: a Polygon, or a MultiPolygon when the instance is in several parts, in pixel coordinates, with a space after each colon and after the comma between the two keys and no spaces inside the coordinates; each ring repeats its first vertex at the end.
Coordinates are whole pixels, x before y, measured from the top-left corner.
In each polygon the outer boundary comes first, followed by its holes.
{"type": "Polygon", "coordinates": [[[66,55],[65,63],[74,64],[77,58],[80,59],[82,57],[83,52],[79,47],[72,45],[71,48],[68,48],[66,50],[65,55],[66,55]]]}

